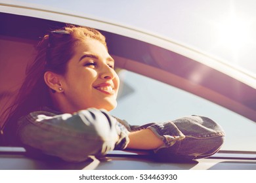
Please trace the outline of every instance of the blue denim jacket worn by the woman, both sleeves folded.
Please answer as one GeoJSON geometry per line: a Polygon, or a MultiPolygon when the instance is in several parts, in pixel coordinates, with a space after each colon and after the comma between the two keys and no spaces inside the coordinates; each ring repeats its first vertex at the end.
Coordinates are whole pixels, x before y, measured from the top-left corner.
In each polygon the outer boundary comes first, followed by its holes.
{"type": "Polygon", "coordinates": [[[154,157],[162,161],[211,156],[224,140],[223,129],[202,116],[135,126],[95,108],[74,114],[60,114],[49,108],[31,112],[19,120],[17,139],[32,155],[46,154],[65,161],[84,161],[90,155],[103,156],[110,150],[125,149],[129,132],[145,128],[164,142],[153,151],[154,157]]]}

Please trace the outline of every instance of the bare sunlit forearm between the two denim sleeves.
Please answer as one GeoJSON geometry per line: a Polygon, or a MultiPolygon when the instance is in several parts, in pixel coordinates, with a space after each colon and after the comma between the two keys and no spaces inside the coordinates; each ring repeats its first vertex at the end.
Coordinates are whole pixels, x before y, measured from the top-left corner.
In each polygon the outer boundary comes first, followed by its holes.
{"type": "Polygon", "coordinates": [[[163,145],[163,141],[158,138],[150,129],[142,129],[129,133],[130,142],[127,148],[153,150],[163,145]]]}

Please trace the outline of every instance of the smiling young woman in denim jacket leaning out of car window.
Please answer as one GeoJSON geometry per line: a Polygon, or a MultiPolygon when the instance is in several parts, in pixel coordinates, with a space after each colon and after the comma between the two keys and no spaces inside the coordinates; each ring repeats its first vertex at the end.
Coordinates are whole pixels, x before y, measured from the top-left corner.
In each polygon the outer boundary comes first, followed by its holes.
{"type": "Polygon", "coordinates": [[[3,134],[31,156],[84,161],[126,148],[153,150],[162,160],[211,156],[223,144],[221,127],[202,116],[131,126],[111,116],[119,78],[105,37],[95,29],[69,25],[39,42],[3,134]]]}

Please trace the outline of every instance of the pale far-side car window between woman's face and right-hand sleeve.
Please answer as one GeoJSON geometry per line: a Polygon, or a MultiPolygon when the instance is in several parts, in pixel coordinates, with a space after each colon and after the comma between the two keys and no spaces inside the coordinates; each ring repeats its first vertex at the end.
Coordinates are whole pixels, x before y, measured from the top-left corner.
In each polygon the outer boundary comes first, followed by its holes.
{"type": "Polygon", "coordinates": [[[256,123],[202,97],[152,78],[122,70],[117,108],[112,114],[131,125],[165,122],[182,116],[206,116],[226,133],[221,150],[256,151],[256,123]]]}

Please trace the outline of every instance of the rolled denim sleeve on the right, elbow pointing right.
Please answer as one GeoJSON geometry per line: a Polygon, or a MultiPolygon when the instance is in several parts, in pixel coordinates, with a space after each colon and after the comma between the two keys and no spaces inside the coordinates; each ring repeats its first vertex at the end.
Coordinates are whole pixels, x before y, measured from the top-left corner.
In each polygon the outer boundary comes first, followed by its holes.
{"type": "Polygon", "coordinates": [[[225,136],[219,124],[204,116],[186,116],[147,128],[164,142],[154,150],[155,158],[161,161],[207,158],[221,148],[225,136]]]}

